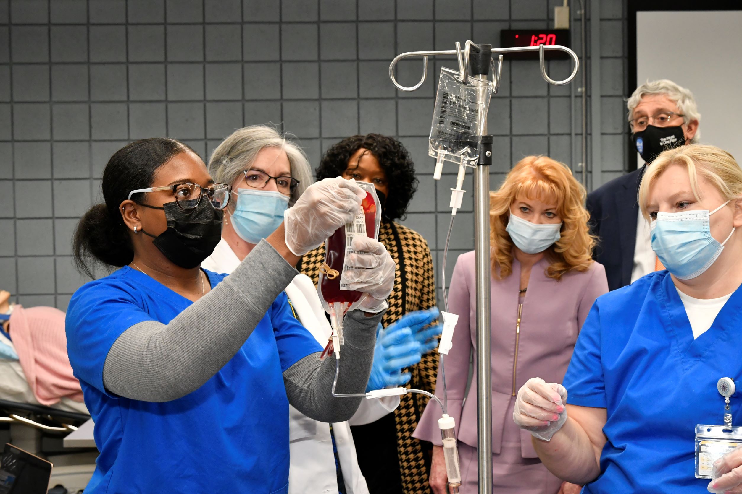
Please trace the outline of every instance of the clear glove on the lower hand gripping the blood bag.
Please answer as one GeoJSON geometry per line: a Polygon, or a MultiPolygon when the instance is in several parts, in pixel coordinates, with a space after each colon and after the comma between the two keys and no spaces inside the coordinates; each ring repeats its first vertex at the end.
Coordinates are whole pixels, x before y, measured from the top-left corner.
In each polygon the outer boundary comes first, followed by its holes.
{"type": "Polygon", "coordinates": [[[378,313],[385,310],[387,297],[392,293],[396,264],[380,241],[367,236],[353,238],[351,247],[355,253],[348,254],[345,263],[352,268],[340,278],[348,285],[348,290],[358,290],[366,296],[358,305],[358,310],[378,313]]]}

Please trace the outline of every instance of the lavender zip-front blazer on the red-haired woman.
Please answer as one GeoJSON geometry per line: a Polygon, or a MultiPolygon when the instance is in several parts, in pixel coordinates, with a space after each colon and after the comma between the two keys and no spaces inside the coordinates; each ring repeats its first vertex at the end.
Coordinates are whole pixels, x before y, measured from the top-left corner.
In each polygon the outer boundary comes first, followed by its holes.
{"type": "MultiPolygon", "coordinates": [[[[513,259],[513,273],[502,280],[490,277],[492,304],[492,451],[500,453],[504,427],[517,427],[505,416],[515,395],[530,378],[562,382],[574,350],[577,333],[598,296],[608,292],[603,264],[594,262],[585,272],[567,273],[557,281],[548,278],[544,258],[531,269],[523,301],[516,361],[516,319],[520,263],[513,259]]],[[[475,348],[476,299],[474,253],[459,256],[448,290],[448,310],[459,315],[453,348],[445,356],[448,415],[456,419],[459,441],[476,447],[476,376],[466,393],[469,356],[475,348]],[[464,399],[465,398],[465,399],[464,399]]],[[[476,354],[475,368],[476,368],[476,354]]],[[[436,395],[443,399],[439,369],[436,395]]],[[[441,409],[431,400],[413,436],[441,445],[438,419],[441,409]]],[[[520,431],[523,458],[536,458],[531,433],[520,431]]]]}

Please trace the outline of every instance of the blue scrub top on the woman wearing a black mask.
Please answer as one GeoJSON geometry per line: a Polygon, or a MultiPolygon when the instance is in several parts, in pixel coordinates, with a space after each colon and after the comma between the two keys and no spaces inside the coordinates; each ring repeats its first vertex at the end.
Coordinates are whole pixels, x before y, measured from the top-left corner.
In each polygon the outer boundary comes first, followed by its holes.
{"type": "MultiPolygon", "coordinates": [[[[212,287],[226,276],[206,273],[212,287]]],[[[121,333],[142,321],[167,324],[191,303],[130,267],[85,284],[70,300],[70,364],[100,451],[85,494],[288,492],[282,373],[322,348],[292,315],[285,293],[232,360],[193,393],[152,403],[103,386],[105,358],[121,333]]]]}

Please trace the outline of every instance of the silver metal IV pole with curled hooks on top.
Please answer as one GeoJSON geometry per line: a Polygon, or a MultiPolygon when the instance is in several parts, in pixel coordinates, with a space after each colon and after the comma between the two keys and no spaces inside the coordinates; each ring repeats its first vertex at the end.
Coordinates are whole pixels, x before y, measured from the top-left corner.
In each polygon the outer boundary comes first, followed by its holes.
{"type": "MultiPolygon", "coordinates": [[[[474,44],[467,41],[464,47],[464,64],[459,58],[459,68],[465,81],[471,68],[475,79],[487,80],[490,66],[493,69],[493,94],[497,92],[502,73],[502,57],[507,53],[539,52],[541,76],[549,84],[568,84],[580,67],[580,61],[574,51],[563,46],[522,47],[522,48],[493,48],[491,44],[474,44]],[[563,81],[554,81],[546,74],[544,60],[545,50],[558,50],[568,53],[574,61],[574,70],[563,81]],[[492,54],[499,55],[497,70],[492,60],[492,54]],[[471,63],[470,63],[471,62],[471,63]]],[[[436,55],[461,55],[460,45],[456,43],[456,50],[417,51],[401,53],[396,56],[389,66],[389,77],[399,90],[414,91],[427,78],[427,57],[436,55]],[[423,58],[422,79],[412,87],[398,84],[394,77],[394,67],[401,59],[410,57],[423,58]]],[[[478,92],[477,99],[485,97],[478,92]]],[[[476,266],[476,401],[477,401],[477,464],[479,467],[479,494],[492,494],[492,352],[490,348],[490,164],[492,164],[492,136],[487,135],[487,116],[484,117],[482,129],[482,148],[479,152],[479,161],[474,172],[474,250],[476,266]]]]}

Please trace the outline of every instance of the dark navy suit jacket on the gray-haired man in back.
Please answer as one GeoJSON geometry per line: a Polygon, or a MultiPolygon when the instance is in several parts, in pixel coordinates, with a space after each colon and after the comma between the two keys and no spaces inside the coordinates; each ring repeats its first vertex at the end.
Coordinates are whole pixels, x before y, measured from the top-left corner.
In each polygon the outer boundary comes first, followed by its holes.
{"type": "Polygon", "coordinates": [[[614,178],[588,194],[591,230],[598,237],[594,258],[605,267],[608,290],[631,284],[637,243],[637,193],[646,167],[614,178]]]}

